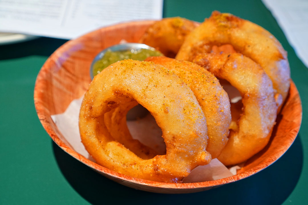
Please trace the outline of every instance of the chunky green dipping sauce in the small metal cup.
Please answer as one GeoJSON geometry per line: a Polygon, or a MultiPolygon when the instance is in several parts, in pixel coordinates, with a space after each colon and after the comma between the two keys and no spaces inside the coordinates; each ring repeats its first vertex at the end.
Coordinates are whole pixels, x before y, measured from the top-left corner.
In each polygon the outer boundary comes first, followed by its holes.
{"type": "Polygon", "coordinates": [[[99,74],[107,66],[117,61],[122,61],[124,59],[143,61],[150,56],[163,56],[163,54],[157,50],[149,49],[132,49],[123,51],[107,50],[104,56],[93,65],[93,77],[99,74]]]}

